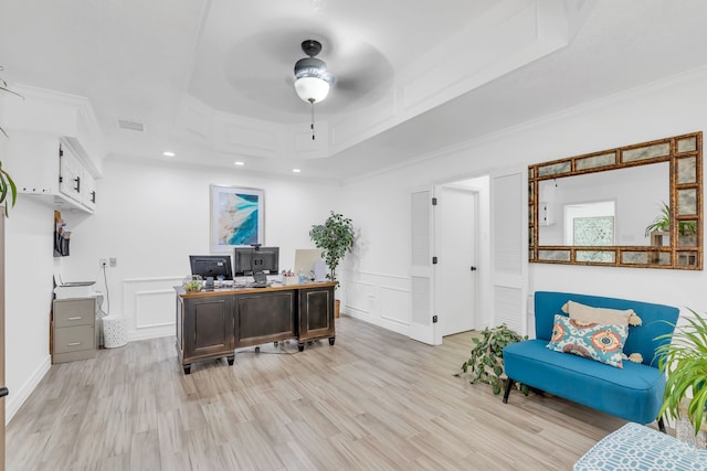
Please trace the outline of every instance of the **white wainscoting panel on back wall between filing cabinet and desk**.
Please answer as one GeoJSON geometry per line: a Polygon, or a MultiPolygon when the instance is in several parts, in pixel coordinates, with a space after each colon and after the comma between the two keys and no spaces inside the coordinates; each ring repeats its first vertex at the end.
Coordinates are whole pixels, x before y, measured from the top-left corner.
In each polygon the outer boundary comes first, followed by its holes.
{"type": "Polygon", "coordinates": [[[134,278],[123,281],[123,309],[128,340],[175,335],[175,286],[183,277],[134,278]]]}

